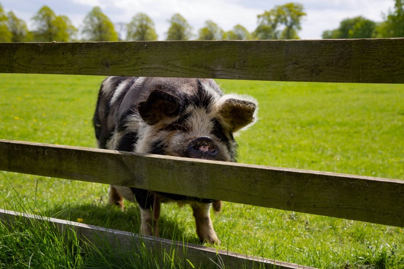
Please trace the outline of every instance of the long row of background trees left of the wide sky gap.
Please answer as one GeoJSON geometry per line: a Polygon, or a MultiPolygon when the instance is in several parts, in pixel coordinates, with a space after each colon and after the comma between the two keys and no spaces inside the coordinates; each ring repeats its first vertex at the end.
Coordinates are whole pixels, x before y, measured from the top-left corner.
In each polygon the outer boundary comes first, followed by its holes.
{"type": "MultiPolygon", "coordinates": [[[[258,15],[258,27],[253,33],[237,24],[225,32],[212,20],[194,34],[192,26],[180,14],[174,14],[168,20],[169,28],[166,40],[219,40],[219,39],[293,39],[299,38],[301,20],[306,15],[303,5],[287,3],[275,6],[258,15]]],[[[9,11],[4,12],[0,4],[0,42],[46,42],[46,41],[154,41],[158,39],[153,20],[145,13],[137,13],[129,23],[113,24],[102,12],[94,7],[84,18],[80,31],[67,16],[56,15],[48,6],[42,6],[31,18],[33,30],[9,11]],[[81,34],[82,38],[77,38],[81,34]]]]}

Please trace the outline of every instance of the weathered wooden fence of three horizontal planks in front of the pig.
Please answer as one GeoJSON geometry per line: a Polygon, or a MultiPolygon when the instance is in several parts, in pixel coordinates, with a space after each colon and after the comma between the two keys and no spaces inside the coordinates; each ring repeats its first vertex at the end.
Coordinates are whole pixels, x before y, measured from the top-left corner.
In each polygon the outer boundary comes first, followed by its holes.
{"type": "MultiPolygon", "coordinates": [[[[0,43],[0,72],[404,83],[403,48],[404,38],[0,43]]],[[[13,140],[0,140],[0,170],[404,227],[404,180],[398,179],[13,140]],[[192,179],[195,174],[198,180],[192,179]]],[[[8,220],[15,214],[0,212],[8,220]]],[[[88,227],[88,238],[103,229],[88,227]]],[[[169,244],[164,239],[144,238],[162,248],[169,244]]],[[[181,243],[175,244],[181,248],[181,243]]],[[[193,253],[201,264],[227,259],[233,266],[243,261],[266,268],[307,268],[187,246],[187,255],[193,253]]]]}

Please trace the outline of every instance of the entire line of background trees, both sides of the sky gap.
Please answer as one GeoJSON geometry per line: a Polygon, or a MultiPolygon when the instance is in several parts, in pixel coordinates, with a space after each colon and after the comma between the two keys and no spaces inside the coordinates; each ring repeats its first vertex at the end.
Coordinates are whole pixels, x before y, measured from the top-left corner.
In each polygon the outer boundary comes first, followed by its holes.
{"type": "MultiPolygon", "coordinates": [[[[327,30],[323,38],[404,37],[404,0],[396,0],[394,10],[384,15],[384,21],[373,22],[362,16],[341,21],[339,28],[327,30]]],[[[187,20],[176,13],[168,20],[166,40],[246,40],[299,39],[301,21],[306,13],[303,5],[287,3],[257,15],[257,28],[252,33],[240,24],[225,32],[212,20],[194,34],[187,20]]],[[[100,7],[94,7],[84,18],[80,31],[69,18],[56,15],[42,6],[31,18],[33,30],[25,21],[0,4],[0,42],[69,42],[69,41],[155,41],[158,39],[153,20],[145,13],[137,13],[129,23],[112,23],[100,7]],[[79,39],[77,36],[81,34],[79,39]],[[123,37],[125,36],[125,38],[123,37]]]]}

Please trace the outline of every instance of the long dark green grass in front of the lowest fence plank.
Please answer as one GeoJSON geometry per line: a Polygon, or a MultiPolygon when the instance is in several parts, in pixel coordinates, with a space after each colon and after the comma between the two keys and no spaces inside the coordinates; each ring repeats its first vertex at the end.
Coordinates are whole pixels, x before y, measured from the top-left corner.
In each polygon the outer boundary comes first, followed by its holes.
{"type": "MultiPolygon", "coordinates": [[[[35,199],[27,203],[15,194],[13,201],[19,205],[19,210],[34,212],[37,218],[16,216],[9,218],[7,224],[0,221],[0,269],[193,267],[189,260],[175,257],[173,248],[153,251],[141,238],[139,242],[133,238],[130,249],[122,249],[119,242],[107,240],[102,233],[93,235],[91,242],[83,243],[74,227],[58,227],[48,222],[38,211],[35,199]]],[[[14,209],[13,205],[9,206],[14,209]]]]}

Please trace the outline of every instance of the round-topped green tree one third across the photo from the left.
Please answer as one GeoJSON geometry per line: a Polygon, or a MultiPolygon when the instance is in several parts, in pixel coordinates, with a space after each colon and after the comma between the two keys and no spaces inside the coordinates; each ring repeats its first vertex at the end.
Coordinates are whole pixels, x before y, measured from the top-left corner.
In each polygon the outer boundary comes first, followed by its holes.
{"type": "Polygon", "coordinates": [[[144,13],[137,13],[127,24],[127,40],[155,41],[157,33],[153,20],[144,13]]]}

